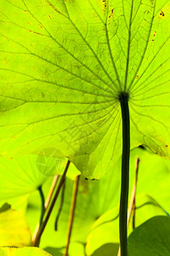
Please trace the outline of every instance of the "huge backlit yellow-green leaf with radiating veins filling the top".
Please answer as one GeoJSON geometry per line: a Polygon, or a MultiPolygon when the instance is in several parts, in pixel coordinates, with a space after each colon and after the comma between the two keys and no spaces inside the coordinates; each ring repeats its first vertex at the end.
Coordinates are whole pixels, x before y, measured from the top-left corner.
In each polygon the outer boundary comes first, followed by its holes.
{"type": "Polygon", "coordinates": [[[169,1],[2,0],[0,148],[55,151],[88,177],[131,148],[170,155],[169,1]]]}

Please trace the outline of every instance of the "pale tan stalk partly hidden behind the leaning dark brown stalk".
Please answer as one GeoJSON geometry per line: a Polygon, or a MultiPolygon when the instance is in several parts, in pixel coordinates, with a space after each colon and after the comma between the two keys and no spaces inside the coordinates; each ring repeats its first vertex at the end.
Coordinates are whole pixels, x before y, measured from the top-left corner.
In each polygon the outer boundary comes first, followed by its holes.
{"type": "MultiPolygon", "coordinates": [[[[55,175],[54,180],[53,180],[53,183],[52,183],[52,185],[51,185],[51,188],[49,189],[49,193],[48,193],[47,200],[45,201],[45,205],[44,205],[45,211],[47,210],[48,205],[49,205],[49,202],[51,201],[51,198],[52,198],[52,196],[53,196],[54,189],[55,189],[55,187],[56,187],[56,184],[57,184],[58,179],[59,179],[59,175],[55,175]]],[[[35,240],[36,240],[36,237],[37,237],[37,233],[38,233],[38,231],[39,231],[39,228],[40,228],[40,224],[37,223],[36,229],[35,229],[35,231],[34,231],[34,234],[33,234],[33,236],[32,236],[32,239],[31,239],[31,245],[32,245],[32,246],[34,246],[34,244],[35,244],[35,240]]]]}

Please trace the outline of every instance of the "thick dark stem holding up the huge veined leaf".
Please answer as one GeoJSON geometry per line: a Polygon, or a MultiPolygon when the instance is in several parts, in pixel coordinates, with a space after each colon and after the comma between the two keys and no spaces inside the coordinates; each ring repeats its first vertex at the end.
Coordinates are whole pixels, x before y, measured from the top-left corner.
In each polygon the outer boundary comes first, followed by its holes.
{"type": "Polygon", "coordinates": [[[127,256],[127,204],[129,183],[130,157],[130,120],[128,109],[128,94],[122,92],[119,96],[122,110],[122,184],[119,212],[119,232],[121,256],[127,256]]]}

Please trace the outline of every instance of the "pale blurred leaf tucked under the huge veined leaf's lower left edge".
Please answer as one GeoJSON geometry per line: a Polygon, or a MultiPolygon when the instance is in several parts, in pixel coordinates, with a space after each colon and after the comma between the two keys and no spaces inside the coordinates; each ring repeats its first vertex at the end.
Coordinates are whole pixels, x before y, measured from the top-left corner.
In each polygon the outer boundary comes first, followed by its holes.
{"type": "MultiPolygon", "coordinates": [[[[44,155],[27,154],[18,159],[6,160],[0,157],[0,200],[30,194],[38,189],[55,174],[62,174],[65,170],[64,158],[45,157],[44,155]]],[[[74,177],[79,172],[71,164],[67,173],[68,177],[74,177]]]]}

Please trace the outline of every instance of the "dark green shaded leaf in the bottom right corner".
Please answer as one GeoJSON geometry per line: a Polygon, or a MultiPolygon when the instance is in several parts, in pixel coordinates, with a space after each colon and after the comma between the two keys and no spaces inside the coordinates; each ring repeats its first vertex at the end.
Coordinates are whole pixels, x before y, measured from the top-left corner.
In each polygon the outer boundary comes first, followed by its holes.
{"type": "Polygon", "coordinates": [[[157,216],[140,225],[129,236],[129,256],[168,256],[170,218],[157,216]]]}

